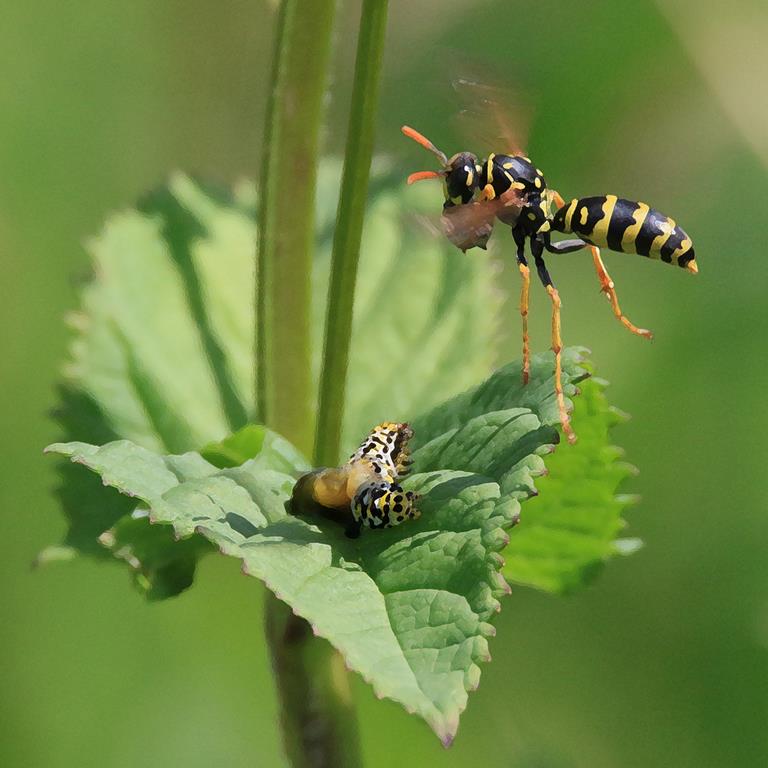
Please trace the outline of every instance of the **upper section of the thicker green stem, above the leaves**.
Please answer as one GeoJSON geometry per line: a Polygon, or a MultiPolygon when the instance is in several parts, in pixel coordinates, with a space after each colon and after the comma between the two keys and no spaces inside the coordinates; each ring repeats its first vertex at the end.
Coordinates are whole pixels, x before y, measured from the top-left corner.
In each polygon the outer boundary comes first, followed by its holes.
{"type": "Polygon", "coordinates": [[[280,5],[258,213],[256,418],[312,447],[315,181],[335,0],[280,5]]]}

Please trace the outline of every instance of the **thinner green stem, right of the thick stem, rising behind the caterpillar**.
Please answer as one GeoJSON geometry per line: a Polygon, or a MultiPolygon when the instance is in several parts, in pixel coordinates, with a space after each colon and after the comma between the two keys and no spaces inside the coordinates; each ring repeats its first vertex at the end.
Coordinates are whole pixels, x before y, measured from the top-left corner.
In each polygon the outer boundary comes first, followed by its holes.
{"type": "Polygon", "coordinates": [[[320,376],[315,465],[338,462],[352,335],[352,309],[387,22],[387,0],[363,0],[344,174],[333,238],[331,281],[320,376]]]}

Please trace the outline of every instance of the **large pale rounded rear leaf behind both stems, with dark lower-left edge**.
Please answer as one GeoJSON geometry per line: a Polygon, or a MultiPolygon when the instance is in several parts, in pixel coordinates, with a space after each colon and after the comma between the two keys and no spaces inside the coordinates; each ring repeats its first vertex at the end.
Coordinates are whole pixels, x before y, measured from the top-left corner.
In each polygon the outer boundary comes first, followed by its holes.
{"type": "MultiPolygon", "coordinates": [[[[318,180],[315,376],[339,176],[340,166],[326,163],[318,180]]],[[[499,298],[488,258],[466,258],[433,237],[416,217],[435,209],[434,190],[402,187],[379,165],[363,235],[345,450],[374,422],[454,394],[491,365],[499,298]]],[[[175,174],[137,210],[112,215],[88,243],[94,276],[70,318],[75,337],[57,412],[65,439],[102,444],[124,438],[159,453],[183,452],[246,424],[255,400],[254,210],[248,184],[233,193],[212,191],[175,174]]],[[[244,446],[248,457],[261,450],[258,432],[236,439],[252,441],[244,446]]],[[[242,463],[242,455],[225,441],[210,458],[231,466],[242,463]]],[[[301,461],[289,457],[288,464],[304,466],[301,461]]],[[[273,468],[289,471],[285,463],[273,468]]],[[[130,535],[156,535],[142,531],[141,521],[121,527],[117,549],[109,545],[133,505],[105,498],[98,481],[67,465],[61,474],[69,528],[63,544],[45,550],[38,562],[77,553],[136,562],[124,555],[147,551],[146,542],[132,544],[130,535]]],[[[155,551],[163,541],[172,545],[163,538],[155,551]]],[[[148,594],[171,594],[171,584],[156,583],[172,571],[170,563],[164,571],[142,563],[136,583],[148,594]]],[[[189,569],[180,564],[182,571],[189,569]]]]}

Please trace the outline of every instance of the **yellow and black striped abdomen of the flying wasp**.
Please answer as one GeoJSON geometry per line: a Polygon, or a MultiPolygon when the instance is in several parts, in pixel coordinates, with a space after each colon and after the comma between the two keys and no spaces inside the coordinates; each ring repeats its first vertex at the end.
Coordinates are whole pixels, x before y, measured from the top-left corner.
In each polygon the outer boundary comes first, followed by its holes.
{"type": "Polygon", "coordinates": [[[551,229],[573,233],[600,248],[638,253],[697,271],[691,238],[673,219],[645,203],[616,195],[571,200],[554,215],[551,229]]]}

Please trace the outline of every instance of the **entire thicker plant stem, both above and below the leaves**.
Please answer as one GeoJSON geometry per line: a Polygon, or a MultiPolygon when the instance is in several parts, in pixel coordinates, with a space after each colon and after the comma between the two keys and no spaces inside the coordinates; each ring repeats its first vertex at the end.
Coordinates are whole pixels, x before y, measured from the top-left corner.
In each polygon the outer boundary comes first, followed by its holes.
{"type": "MultiPolygon", "coordinates": [[[[267,111],[256,285],[257,418],[312,447],[309,309],[315,181],[335,0],[280,6],[267,111]]],[[[360,765],[344,660],[267,593],[266,636],[294,768],[360,765]]]]}

